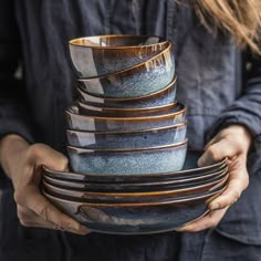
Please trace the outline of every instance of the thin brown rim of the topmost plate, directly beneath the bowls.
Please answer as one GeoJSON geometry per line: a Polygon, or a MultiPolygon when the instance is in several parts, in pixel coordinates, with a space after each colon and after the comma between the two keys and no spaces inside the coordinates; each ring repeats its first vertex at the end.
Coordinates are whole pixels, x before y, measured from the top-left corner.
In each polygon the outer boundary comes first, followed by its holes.
{"type": "MultiPolygon", "coordinates": [[[[160,173],[159,175],[166,177],[167,175],[170,175],[170,174],[171,175],[173,174],[176,174],[176,175],[181,175],[181,174],[187,175],[188,173],[194,173],[194,171],[197,171],[197,170],[200,170],[200,171],[211,171],[209,169],[211,169],[211,168],[222,168],[222,167],[225,167],[227,165],[227,163],[228,163],[228,158],[223,158],[221,161],[212,164],[210,166],[205,166],[205,167],[199,167],[199,168],[191,168],[191,169],[186,169],[186,170],[178,170],[178,171],[160,173]]],[[[50,169],[50,168],[48,168],[44,165],[42,166],[42,168],[48,174],[50,174],[50,173],[53,174],[53,175],[62,174],[65,177],[66,177],[66,175],[74,175],[74,176],[80,176],[80,177],[92,177],[92,178],[96,178],[97,176],[101,177],[101,178],[103,178],[103,177],[108,177],[108,178],[118,178],[118,177],[121,177],[121,178],[123,178],[123,176],[121,176],[121,175],[104,175],[104,174],[86,174],[86,175],[84,175],[84,174],[76,174],[76,173],[59,171],[59,170],[50,169]]],[[[150,177],[155,177],[155,174],[140,174],[139,176],[142,176],[142,177],[146,176],[146,177],[150,178],[150,177]]],[[[124,178],[136,178],[136,177],[137,177],[137,175],[130,175],[130,174],[129,175],[124,175],[124,178]]]]}

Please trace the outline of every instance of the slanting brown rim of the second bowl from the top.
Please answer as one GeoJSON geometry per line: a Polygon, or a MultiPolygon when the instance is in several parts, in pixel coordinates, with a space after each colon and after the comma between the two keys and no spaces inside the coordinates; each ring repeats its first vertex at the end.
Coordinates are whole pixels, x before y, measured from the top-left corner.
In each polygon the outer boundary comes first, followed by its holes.
{"type": "MultiPolygon", "coordinates": [[[[161,50],[158,54],[154,55],[153,58],[150,58],[142,63],[138,63],[134,66],[126,67],[124,70],[116,71],[114,73],[106,74],[106,75],[101,75],[101,76],[97,75],[94,77],[79,77],[77,82],[85,83],[85,82],[92,82],[92,81],[103,81],[104,79],[109,79],[109,77],[116,77],[121,74],[132,72],[133,70],[144,67],[144,66],[146,66],[146,64],[153,63],[155,60],[158,60],[160,56],[165,56],[167,53],[169,53],[169,61],[171,61],[171,63],[175,64],[175,59],[173,56],[171,49],[173,49],[173,44],[170,42],[168,42],[167,46],[164,50],[161,50]]],[[[166,61],[165,61],[165,63],[166,63],[166,61]]]]}

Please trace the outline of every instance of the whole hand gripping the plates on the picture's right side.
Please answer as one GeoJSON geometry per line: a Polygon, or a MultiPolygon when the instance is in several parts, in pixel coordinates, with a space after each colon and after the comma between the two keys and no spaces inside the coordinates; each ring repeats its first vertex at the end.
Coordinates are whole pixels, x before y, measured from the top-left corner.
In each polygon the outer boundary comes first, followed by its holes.
{"type": "Polygon", "coordinates": [[[247,155],[251,145],[249,130],[241,125],[232,125],[215,136],[206,146],[198,165],[206,166],[228,157],[229,181],[226,190],[208,203],[210,212],[178,231],[197,232],[217,227],[228,208],[234,203],[249,185],[247,155]]]}

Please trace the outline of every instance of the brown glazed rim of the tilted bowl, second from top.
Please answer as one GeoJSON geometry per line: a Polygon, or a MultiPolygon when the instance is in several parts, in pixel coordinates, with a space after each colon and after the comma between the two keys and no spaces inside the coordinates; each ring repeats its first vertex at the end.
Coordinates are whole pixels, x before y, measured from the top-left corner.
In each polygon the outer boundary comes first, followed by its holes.
{"type": "Polygon", "coordinates": [[[117,71],[115,73],[111,73],[111,74],[107,74],[107,75],[102,75],[102,76],[95,76],[95,77],[82,77],[82,79],[77,79],[79,82],[90,82],[90,81],[93,81],[93,80],[103,80],[103,79],[108,79],[108,77],[115,77],[117,75],[121,75],[123,73],[126,73],[126,72],[129,72],[129,71],[133,71],[135,69],[138,69],[138,67],[144,67],[146,66],[145,64],[148,64],[148,63],[152,63],[154,62],[155,60],[159,59],[160,56],[165,55],[166,53],[169,53],[171,55],[171,49],[173,49],[173,44],[169,43],[166,49],[164,49],[160,53],[158,53],[157,55],[146,60],[145,62],[142,62],[142,63],[138,63],[132,67],[127,67],[127,69],[124,69],[124,70],[121,70],[121,71],[117,71]]]}

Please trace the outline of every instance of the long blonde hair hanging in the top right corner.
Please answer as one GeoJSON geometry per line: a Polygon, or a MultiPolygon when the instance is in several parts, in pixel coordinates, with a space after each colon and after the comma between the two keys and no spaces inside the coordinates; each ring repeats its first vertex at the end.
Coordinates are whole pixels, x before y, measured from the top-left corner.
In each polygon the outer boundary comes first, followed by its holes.
{"type": "Polygon", "coordinates": [[[200,22],[229,32],[239,48],[261,54],[261,0],[194,0],[200,22]]]}

